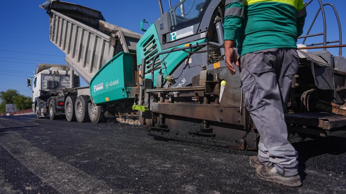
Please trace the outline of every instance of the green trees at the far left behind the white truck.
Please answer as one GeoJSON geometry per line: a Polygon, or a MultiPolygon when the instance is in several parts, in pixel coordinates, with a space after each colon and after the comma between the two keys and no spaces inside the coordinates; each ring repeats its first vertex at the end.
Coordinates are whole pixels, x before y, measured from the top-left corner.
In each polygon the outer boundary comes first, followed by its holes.
{"type": "Polygon", "coordinates": [[[31,108],[31,97],[20,95],[17,90],[8,89],[0,91],[0,113],[5,113],[6,104],[15,104],[18,110],[31,108]]]}

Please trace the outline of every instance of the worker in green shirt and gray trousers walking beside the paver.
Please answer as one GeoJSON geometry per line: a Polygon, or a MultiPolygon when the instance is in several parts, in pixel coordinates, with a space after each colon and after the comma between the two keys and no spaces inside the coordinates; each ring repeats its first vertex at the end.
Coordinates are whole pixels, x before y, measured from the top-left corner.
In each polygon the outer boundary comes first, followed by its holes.
{"type": "Polygon", "coordinates": [[[284,110],[299,66],[303,0],[226,0],[225,6],[226,65],[231,74],[234,64],[240,66],[245,105],[260,134],[250,164],[262,180],[300,186],[298,153],[288,141],[284,110]]]}

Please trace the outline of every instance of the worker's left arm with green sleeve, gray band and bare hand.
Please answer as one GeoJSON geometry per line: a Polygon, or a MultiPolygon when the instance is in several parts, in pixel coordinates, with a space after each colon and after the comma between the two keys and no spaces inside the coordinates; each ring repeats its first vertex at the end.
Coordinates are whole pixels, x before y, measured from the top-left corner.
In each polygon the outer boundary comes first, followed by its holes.
{"type": "Polygon", "coordinates": [[[233,47],[235,46],[235,40],[238,36],[240,27],[242,26],[242,21],[244,19],[244,0],[226,0],[225,8],[225,61],[226,65],[231,72],[235,74],[236,70],[232,65],[235,62],[239,66],[237,60],[237,54],[233,47]]]}

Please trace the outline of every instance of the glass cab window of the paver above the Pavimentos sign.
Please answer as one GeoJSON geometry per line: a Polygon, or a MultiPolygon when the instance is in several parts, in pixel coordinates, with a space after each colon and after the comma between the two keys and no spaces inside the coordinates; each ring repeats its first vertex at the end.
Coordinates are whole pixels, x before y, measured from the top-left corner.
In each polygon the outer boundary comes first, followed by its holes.
{"type": "Polygon", "coordinates": [[[171,30],[200,23],[211,0],[180,0],[170,10],[171,30]]]}

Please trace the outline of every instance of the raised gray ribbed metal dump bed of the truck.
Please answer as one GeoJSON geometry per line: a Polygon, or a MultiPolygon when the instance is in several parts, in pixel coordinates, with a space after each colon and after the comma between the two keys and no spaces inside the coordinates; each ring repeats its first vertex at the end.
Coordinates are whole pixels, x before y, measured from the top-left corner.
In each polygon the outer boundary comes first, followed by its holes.
{"type": "Polygon", "coordinates": [[[49,39],[65,61],[89,83],[101,67],[121,51],[135,53],[139,33],[104,20],[100,11],[62,1],[46,1],[49,39]]]}

